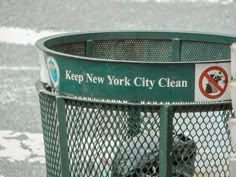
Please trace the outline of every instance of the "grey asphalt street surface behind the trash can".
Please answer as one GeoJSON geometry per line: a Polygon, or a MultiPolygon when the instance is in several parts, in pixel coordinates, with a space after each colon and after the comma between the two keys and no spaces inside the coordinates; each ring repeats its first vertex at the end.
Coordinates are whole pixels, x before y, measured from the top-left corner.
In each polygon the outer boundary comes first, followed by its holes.
{"type": "MultiPolygon", "coordinates": [[[[1,1],[0,177],[46,176],[35,89],[39,79],[37,49],[30,44],[2,42],[1,27],[31,29],[36,33],[188,31],[236,35],[235,19],[236,2],[223,0],[1,1]],[[21,151],[25,156],[19,158],[21,151]]],[[[8,34],[9,39],[13,37],[8,34]]]]}

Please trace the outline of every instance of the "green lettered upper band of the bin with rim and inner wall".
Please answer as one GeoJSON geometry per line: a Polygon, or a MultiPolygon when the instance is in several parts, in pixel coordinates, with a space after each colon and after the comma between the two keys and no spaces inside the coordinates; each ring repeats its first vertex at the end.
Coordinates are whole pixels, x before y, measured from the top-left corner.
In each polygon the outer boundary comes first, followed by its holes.
{"type": "Polygon", "coordinates": [[[196,64],[229,63],[234,41],[210,34],[111,32],[59,35],[36,45],[46,60],[55,59],[60,80],[54,89],[62,94],[194,102],[196,64]]]}

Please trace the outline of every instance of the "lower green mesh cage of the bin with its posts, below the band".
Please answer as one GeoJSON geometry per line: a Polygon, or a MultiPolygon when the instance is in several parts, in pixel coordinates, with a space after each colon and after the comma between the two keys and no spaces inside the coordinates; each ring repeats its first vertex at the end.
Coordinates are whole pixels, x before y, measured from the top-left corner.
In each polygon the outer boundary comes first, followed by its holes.
{"type": "MultiPolygon", "coordinates": [[[[172,166],[174,157],[184,155],[186,158],[193,155],[191,153],[181,154],[183,147],[179,148],[179,150],[178,147],[175,147],[175,151],[172,151],[172,147],[175,145],[172,142],[175,138],[172,132],[176,134],[187,133],[189,134],[188,138],[196,143],[198,149],[194,161],[195,171],[193,173],[195,176],[217,175],[218,173],[222,176],[229,175],[227,156],[232,152],[232,146],[230,145],[228,129],[225,124],[228,117],[233,114],[231,102],[229,101],[201,104],[176,103],[171,105],[141,104],[138,102],[121,103],[110,102],[109,100],[98,101],[71,96],[58,96],[56,93],[46,90],[40,82],[37,82],[36,87],[40,92],[44,139],[47,140],[45,141],[47,177],[61,177],[60,174],[63,169],[64,174],[67,175],[69,173],[73,177],[96,176],[95,172],[101,174],[101,171],[104,174],[112,174],[113,172],[109,170],[110,167],[108,168],[106,165],[102,165],[101,170],[97,169],[97,166],[103,163],[100,160],[95,161],[94,158],[98,157],[98,155],[91,152],[100,151],[105,153],[105,156],[113,157],[117,153],[115,149],[123,148],[124,155],[130,156],[132,152],[135,154],[140,146],[144,148],[154,142],[157,148],[160,147],[160,150],[157,151],[159,155],[156,156],[156,163],[159,164],[158,173],[171,176],[171,171],[174,168],[172,166]],[[53,108],[55,103],[50,100],[53,101],[56,98],[58,99],[57,104],[59,104],[56,105],[57,109],[49,110],[50,106],[53,108]],[[46,107],[48,109],[45,109],[46,107]],[[47,118],[45,118],[45,115],[47,118]],[[48,123],[52,118],[59,119],[55,115],[61,116],[59,124],[48,123]],[[133,119],[130,119],[132,116],[133,119]],[[59,131],[55,131],[58,128],[57,126],[59,126],[59,131]],[[143,136],[146,141],[140,138],[137,141],[137,137],[140,136],[143,136]],[[159,144],[155,138],[160,140],[159,144]],[[60,139],[59,153],[57,151],[58,148],[56,148],[58,146],[57,139],[60,139]],[[130,142],[130,140],[132,141],[130,142]],[[129,144],[127,146],[123,142],[133,142],[137,143],[137,145],[129,144]],[[67,148],[66,145],[68,146],[67,148]],[[104,149],[102,150],[101,148],[104,149]],[[133,151],[130,151],[130,148],[133,151]],[[216,154],[215,152],[218,153],[216,154]],[[85,157],[87,157],[86,161],[85,157]],[[67,160],[69,160],[68,167],[66,167],[67,160]],[[91,165],[95,169],[90,168],[91,165]],[[209,170],[206,171],[205,168],[209,170]],[[90,171],[93,171],[93,173],[89,173],[90,171]]],[[[183,164],[181,160],[174,160],[177,166],[178,163],[183,164]]],[[[111,167],[122,165],[117,163],[114,162],[111,167]]],[[[189,162],[186,161],[185,163],[189,162]]],[[[128,168],[130,166],[124,167],[128,168]]],[[[153,166],[150,166],[149,169],[152,168],[153,166]]],[[[183,169],[180,170],[183,174],[187,170],[185,168],[183,166],[183,169]]],[[[125,171],[125,168],[123,171],[125,171]]]]}

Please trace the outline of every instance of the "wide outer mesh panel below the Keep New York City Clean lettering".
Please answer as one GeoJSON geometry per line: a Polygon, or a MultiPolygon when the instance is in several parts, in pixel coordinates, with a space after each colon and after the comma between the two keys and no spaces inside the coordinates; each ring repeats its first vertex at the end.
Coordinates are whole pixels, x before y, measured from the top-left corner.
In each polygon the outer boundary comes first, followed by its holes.
{"type": "Polygon", "coordinates": [[[66,113],[71,177],[141,176],[152,171],[139,163],[147,161],[141,154],[158,152],[157,110],[68,101],[66,113]]]}

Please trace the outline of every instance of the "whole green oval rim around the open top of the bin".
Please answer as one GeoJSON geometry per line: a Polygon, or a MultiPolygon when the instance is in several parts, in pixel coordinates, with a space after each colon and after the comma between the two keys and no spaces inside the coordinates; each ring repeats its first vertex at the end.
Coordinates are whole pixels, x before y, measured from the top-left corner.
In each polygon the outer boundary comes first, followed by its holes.
{"type": "MultiPolygon", "coordinates": [[[[193,42],[212,42],[212,43],[222,43],[222,44],[232,44],[236,42],[236,36],[231,36],[230,34],[214,34],[214,33],[197,33],[197,32],[175,32],[175,31],[107,31],[107,32],[72,32],[72,33],[62,33],[57,35],[52,35],[48,37],[41,38],[36,41],[35,46],[42,50],[43,52],[51,53],[53,55],[65,56],[75,59],[91,60],[91,61],[104,61],[104,62],[116,62],[116,63],[209,63],[209,62],[224,62],[228,60],[211,60],[211,61],[168,61],[168,62],[153,62],[153,61],[130,61],[130,60],[114,60],[114,59],[103,59],[88,56],[72,55],[67,53],[58,52],[50,49],[47,45],[49,42],[63,41],[65,43],[80,42],[76,41],[75,37],[78,36],[104,36],[108,35],[110,40],[116,40],[121,38],[114,38],[116,36],[122,37],[122,39],[144,39],[144,40],[187,40],[193,42]],[[153,35],[158,35],[159,38],[152,38],[153,35]],[[133,36],[133,38],[127,38],[127,36],[133,36]],[[137,37],[137,38],[135,38],[137,37]]],[[[93,38],[84,39],[93,40],[93,38]]],[[[106,40],[106,39],[103,39],[106,40]]],[[[60,45],[63,43],[57,43],[60,45]]]]}

